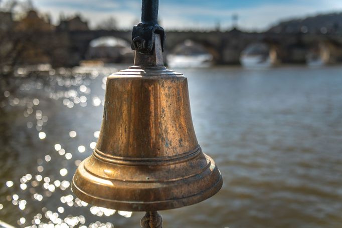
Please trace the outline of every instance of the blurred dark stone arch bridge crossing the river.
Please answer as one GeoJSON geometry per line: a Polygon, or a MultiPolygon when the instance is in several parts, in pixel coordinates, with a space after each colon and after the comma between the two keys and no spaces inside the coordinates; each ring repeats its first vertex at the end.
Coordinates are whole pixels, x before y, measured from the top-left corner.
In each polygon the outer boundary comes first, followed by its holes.
{"type": "MultiPolygon", "coordinates": [[[[56,32],[56,37],[68,39],[69,58],[67,65],[78,64],[86,59],[89,43],[100,37],[112,36],[131,42],[131,31],[72,31],[56,32]],[[77,62],[77,63],[76,63],[77,62]]],[[[274,49],[282,63],[304,63],[305,55],[311,48],[321,44],[329,49],[329,55],[342,61],[342,35],[324,34],[276,34],[276,33],[245,33],[239,30],[229,32],[166,32],[166,54],[172,52],[185,40],[192,40],[202,45],[214,57],[216,64],[239,64],[241,52],[250,44],[266,43],[274,49]]]]}

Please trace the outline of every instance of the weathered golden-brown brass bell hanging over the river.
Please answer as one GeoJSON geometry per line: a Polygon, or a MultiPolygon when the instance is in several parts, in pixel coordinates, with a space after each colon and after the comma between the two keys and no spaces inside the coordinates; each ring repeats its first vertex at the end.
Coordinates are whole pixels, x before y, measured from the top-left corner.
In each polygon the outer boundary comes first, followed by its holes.
{"type": "Polygon", "coordinates": [[[164,67],[108,77],[96,148],[72,182],[80,199],[155,211],[200,202],[221,186],[220,171],[196,139],[186,77],[164,67]]]}

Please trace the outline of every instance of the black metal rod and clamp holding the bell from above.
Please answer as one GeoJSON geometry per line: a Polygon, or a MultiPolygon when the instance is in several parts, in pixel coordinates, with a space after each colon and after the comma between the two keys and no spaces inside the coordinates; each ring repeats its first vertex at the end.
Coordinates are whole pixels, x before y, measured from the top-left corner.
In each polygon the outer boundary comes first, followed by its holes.
{"type": "Polygon", "coordinates": [[[161,50],[164,51],[165,31],[158,25],[159,0],[142,0],[141,22],[133,27],[132,49],[152,54],[154,45],[154,34],[160,35],[161,50]]]}

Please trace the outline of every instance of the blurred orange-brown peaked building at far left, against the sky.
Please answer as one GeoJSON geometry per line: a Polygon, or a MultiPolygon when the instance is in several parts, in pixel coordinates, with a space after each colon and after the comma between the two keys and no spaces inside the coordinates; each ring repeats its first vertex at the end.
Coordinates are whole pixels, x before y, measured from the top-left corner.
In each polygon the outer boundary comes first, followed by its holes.
{"type": "Polygon", "coordinates": [[[27,13],[25,18],[17,22],[16,30],[53,32],[55,31],[55,26],[51,25],[48,18],[40,17],[36,11],[31,10],[27,13]]]}

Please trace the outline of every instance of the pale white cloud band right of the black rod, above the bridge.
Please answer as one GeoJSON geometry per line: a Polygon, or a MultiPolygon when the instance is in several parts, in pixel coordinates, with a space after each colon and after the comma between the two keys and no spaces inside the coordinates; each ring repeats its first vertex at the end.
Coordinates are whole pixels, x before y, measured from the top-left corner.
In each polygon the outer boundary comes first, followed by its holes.
{"type": "Polygon", "coordinates": [[[223,27],[232,25],[232,16],[239,15],[239,27],[246,30],[264,30],[280,20],[306,17],[318,13],[330,13],[342,10],[342,1],[307,0],[297,4],[267,4],[257,7],[230,9],[208,9],[200,6],[180,8],[175,5],[161,7],[160,15],[165,27],[170,28],[213,28],[219,21],[223,27]]]}

